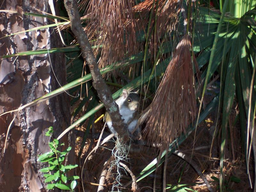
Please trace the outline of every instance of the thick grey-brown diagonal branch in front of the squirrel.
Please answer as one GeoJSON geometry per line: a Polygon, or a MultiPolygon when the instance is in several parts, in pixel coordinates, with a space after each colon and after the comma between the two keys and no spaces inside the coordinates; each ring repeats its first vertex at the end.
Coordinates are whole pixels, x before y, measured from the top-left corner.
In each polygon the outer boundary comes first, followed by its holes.
{"type": "MultiPolygon", "coordinates": [[[[81,47],[82,56],[86,60],[93,80],[93,87],[96,89],[100,100],[103,102],[107,112],[112,120],[113,127],[115,128],[118,135],[124,137],[125,125],[121,119],[119,108],[116,102],[113,100],[111,92],[100,75],[100,70],[97,61],[93,55],[91,44],[89,43],[88,37],[84,32],[81,25],[81,20],[78,12],[77,0],[64,0],[66,10],[68,12],[69,20],[71,23],[71,30],[75,34],[77,41],[81,47]]],[[[128,137],[125,136],[124,140],[128,137]]]]}

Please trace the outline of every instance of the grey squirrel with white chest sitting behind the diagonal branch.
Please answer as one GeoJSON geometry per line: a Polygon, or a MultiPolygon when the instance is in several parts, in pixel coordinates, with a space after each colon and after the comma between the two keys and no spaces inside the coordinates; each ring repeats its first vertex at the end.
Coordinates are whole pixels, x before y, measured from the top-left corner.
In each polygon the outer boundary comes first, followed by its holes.
{"type": "MultiPolygon", "coordinates": [[[[139,90],[136,92],[128,92],[126,89],[124,89],[122,96],[116,100],[116,104],[119,107],[120,115],[122,116],[124,123],[127,124],[129,133],[132,133],[139,119],[137,111],[139,109],[140,97],[138,93],[139,90]]],[[[105,115],[105,121],[108,125],[109,131],[116,135],[116,131],[112,126],[112,121],[108,113],[106,113],[105,115]]],[[[137,128],[134,134],[135,137],[141,137],[140,127],[137,128]]]]}

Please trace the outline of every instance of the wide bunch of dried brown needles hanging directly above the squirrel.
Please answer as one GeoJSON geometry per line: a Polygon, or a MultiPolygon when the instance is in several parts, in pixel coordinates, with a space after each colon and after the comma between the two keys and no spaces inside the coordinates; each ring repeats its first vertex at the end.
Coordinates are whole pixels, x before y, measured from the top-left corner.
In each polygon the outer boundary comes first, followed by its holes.
{"type": "Polygon", "coordinates": [[[97,45],[102,45],[94,49],[95,55],[100,53],[100,68],[138,51],[133,6],[133,1],[124,0],[89,2],[87,14],[91,19],[85,29],[91,32],[89,39],[95,39],[97,45]]]}

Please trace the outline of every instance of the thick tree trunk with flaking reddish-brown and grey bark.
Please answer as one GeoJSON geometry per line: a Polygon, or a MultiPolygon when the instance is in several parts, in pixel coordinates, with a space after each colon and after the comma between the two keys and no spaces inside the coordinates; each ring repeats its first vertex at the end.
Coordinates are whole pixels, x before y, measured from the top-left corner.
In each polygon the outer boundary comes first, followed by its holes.
{"type": "MultiPolygon", "coordinates": [[[[22,10],[34,12],[32,7],[48,12],[47,0],[6,0],[1,5],[1,9],[18,11],[18,14],[0,13],[0,37],[49,24],[46,18],[22,14],[22,10]]],[[[47,45],[49,49],[61,46],[53,28],[3,38],[0,45],[1,56],[45,49],[47,45]]],[[[51,62],[60,84],[66,84],[64,55],[52,54],[51,62]]],[[[47,54],[0,60],[0,113],[19,108],[59,87],[47,54]]],[[[44,165],[37,162],[37,156],[49,151],[50,138],[44,135],[46,128],[53,126],[57,138],[68,127],[69,108],[67,95],[61,94],[20,111],[10,130],[5,154],[5,134],[15,114],[0,117],[0,191],[46,191],[42,173],[38,172],[44,165]]],[[[67,137],[63,141],[67,144],[67,137]]],[[[74,151],[71,156],[74,158],[74,151]]]]}

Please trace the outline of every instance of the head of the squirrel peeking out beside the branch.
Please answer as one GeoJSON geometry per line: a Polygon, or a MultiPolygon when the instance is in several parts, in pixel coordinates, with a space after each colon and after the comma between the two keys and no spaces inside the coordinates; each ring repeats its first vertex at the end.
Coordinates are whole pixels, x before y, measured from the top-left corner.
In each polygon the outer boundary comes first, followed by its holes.
{"type": "Polygon", "coordinates": [[[136,111],[139,109],[140,97],[138,95],[139,90],[136,92],[128,92],[126,89],[123,90],[124,105],[131,111],[136,111]]]}

